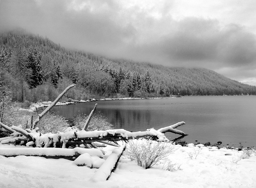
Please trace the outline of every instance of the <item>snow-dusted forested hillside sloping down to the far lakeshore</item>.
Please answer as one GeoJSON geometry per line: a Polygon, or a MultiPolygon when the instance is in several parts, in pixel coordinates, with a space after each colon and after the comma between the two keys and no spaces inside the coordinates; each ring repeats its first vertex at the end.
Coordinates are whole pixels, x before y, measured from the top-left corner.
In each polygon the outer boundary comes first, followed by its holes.
{"type": "Polygon", "coordinates": [[[69,50],[23,30],[0,34],[1,95],[12,101],[53,100],[75,83],[67,98],[255,94],[256,87],[202,68],[110,60],[69,50]]]}

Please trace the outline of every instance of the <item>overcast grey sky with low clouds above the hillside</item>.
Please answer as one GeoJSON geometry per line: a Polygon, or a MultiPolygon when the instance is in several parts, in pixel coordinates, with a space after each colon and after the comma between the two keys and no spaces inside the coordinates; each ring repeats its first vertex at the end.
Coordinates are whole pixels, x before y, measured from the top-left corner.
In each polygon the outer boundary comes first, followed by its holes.
{"type": "Polygon", "coordinates": [[[204,67],[256,85],[256,1],[0,0],[0,28],[165,66],[204,67]]]}

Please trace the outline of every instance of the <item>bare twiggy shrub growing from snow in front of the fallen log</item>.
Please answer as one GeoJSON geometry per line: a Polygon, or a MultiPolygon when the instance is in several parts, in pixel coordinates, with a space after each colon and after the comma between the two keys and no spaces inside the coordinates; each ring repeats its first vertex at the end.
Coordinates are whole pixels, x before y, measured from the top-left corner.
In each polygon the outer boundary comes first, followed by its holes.
{"type": "Polygon", "coordinates": [[[174,151],[172,143],[153,140],[130,140],[125,149],[128,159],[135,160],[139,166],[150,168],[165,163],[168,155],[174,151]]]}

